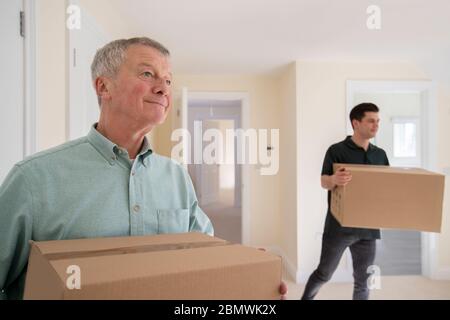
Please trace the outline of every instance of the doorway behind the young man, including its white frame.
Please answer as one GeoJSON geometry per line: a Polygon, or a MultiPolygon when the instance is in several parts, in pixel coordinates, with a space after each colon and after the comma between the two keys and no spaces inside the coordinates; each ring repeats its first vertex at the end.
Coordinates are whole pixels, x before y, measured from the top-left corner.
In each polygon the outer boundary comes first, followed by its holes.
{"type": "MultiPolygon", "coordinates": [[[[383,148],[391,166],[433,170],[431,82],[348,81],[347,115],[361,102],[380,108],[380,129],[372,143],[383,148]]],[[[351,126],[347,120],[347,134],[351,126]]],[[[382,275],[431,275],[433,234],[381,230],[375,264],[382,275]]]]}

